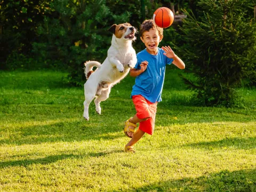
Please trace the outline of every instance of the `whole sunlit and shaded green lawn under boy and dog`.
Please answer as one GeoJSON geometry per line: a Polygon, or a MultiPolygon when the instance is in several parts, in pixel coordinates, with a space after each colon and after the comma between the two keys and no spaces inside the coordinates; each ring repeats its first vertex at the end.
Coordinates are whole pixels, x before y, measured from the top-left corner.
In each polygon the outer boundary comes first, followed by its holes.
{"type": "Polygon", "coordinates": [[[256,90],[243,108],[195,107],[170,67],[153,136],[124,153],[126,77],[83,119],[83,87],[55,71],[0,71],[0,191],[256,191],[256,90]]]}

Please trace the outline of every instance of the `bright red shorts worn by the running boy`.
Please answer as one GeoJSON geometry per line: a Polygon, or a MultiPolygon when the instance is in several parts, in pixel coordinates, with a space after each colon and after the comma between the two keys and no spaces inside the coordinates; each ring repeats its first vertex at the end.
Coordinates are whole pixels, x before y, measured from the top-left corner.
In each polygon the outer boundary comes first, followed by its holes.
{"type": "Polygon", "coordinates": [[[136,115],[139,119],[149,117],[146,121],[140,122],[139,129],[152,135],[155,127],[157,102],[150,102],[142,95],[133,95],[132,101],[137,111],[136,115]]]}

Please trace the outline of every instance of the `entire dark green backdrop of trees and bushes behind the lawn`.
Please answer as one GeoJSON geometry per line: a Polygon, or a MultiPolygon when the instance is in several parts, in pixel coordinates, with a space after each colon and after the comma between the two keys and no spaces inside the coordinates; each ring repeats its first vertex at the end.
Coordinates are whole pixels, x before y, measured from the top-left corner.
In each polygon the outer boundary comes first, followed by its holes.
{"type": "MultiPolygon", "coordinates": [[[[70,85],[82,86],[84,61],[103,62],[107,56],[111,25],[130,22],[139,29],[165,6],[176,16],[161,45],[171,45],[186,62],[182,78],[197,103],[229,107],[237,87],[256,84],[255,5],[255,0],[1,0],[0,70],[65,70],[70,85]],[[181,22],[180,15],[187,18],[181,22]]],[[[133,47],[139,52],[144,46],[137,37],[133,47]]]]}

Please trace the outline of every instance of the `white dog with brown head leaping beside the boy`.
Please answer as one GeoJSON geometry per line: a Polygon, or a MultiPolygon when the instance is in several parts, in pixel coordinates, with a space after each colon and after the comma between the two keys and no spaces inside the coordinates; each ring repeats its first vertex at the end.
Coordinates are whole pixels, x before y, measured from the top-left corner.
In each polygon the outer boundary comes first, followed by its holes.
{"type": "Polygon", "coordinates": [[[96,97],[94,103],[97,113],[100,114],[100,102],[108,99],[111,87],[119,83],[137,62],[136,53],[132,47],[132,41],[136,39],[134,36],[136,29],[129,23],[122,23],[115,24],[108,30],[113,33],[113,37],[105,61],[102,64],[97,61],[85,62],[87,81],[84,84],[83,116],[87,121],[92,100],[96,97]],[[94,66],[97,67],[95,71],[93,71],[94,66]]]}

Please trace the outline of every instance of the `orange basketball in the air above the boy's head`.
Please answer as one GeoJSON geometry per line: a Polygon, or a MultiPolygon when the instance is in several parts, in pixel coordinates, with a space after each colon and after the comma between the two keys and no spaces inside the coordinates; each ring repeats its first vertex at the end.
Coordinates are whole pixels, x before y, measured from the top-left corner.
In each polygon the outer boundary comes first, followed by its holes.
{"type": "Polygon", "coordinates": [[[174,20],[173,12],[167,7],[158,8],[153,15],[156,25],[161,28],[170,27],[174,20]]]}

